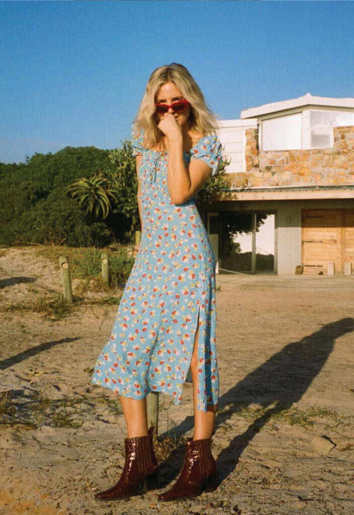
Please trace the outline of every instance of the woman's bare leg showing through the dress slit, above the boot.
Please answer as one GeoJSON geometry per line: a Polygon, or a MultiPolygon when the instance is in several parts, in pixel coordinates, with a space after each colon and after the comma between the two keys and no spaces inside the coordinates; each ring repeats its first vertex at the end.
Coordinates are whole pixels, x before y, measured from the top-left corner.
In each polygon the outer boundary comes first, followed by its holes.
{"type": "Polygon", "coordinates": [[[193,440],[203,440],[211,438],[214,428],[217,404],[211,404],[207,408],[207,413],[197,408],[198,399],[198,334],[199,325],[195,333],[194,349],[191,359],[191,375],[193,381],[193,405],[194,405],[194,435],[193,440]]]}

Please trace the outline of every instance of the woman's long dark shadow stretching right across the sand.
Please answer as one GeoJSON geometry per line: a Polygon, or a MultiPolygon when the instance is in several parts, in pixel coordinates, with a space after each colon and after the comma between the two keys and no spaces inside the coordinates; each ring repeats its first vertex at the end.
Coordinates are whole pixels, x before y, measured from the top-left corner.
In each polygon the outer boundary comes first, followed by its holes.
{"type": "MultiPolygon", "coordinates": [[[[335,340],[352,331],[353,318],[342,318],[324,325],[310,336],[286,345],[220,398],[220,414],[216,416],[215,430],[234,413],[252,403],[257,403],[263,408],[262,415],[252,422],[243,434],[233,438],[218,456],[217,465],[221,480],[235,469],[243,450],[267,421],[301,399],[326,363],[335,340]]],[[[193,417],[187,417],[175,427],[175,432],[177,435],[183,434],[192,427],[193,417]]],[[[168,468],[170,467],[167,466],[168,468]]]]}

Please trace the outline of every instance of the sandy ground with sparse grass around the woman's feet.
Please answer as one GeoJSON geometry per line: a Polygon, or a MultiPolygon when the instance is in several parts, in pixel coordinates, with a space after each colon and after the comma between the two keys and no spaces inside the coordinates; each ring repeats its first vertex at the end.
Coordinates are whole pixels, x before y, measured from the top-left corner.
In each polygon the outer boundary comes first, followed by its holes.
{"type": "MultiPolygon", "coordinates": [[[[90,383],[116,307],[86,302],[56,322],[25,311],[60,290],[59,269],[36,249],[0,251],[1,514],[354,513],[354,277],[220,274],[217,287],[220,485],[172,504],[156,491],[99,503],[124,462],[119,401],[90,383]]],[[[191,436],[192,415],[190,384],[180,407],[161,395],[160,438],[191,436]]],[[[180,445],[161,490],[181,460],[180,445]]]]}

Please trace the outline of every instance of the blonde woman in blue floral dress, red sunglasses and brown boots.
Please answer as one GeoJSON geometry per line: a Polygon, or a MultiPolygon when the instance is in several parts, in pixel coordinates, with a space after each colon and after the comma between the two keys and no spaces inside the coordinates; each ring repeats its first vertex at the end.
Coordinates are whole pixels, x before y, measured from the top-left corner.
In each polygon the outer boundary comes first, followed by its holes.
{"type": "Polygon", "coordinates": [[[128,438],[119,481],[96,494],[122,499],[157,486],[146,395],[180,404],[193,381],[194,435],[183,469],[161,501],[194,497],[216,480],[211,437],[218,401],[215,256],[195,196],[221,161],[217,122],[184,66],[157,68],[147,83],[133,136],[142,237],[110,341],[92,381],[120,395],[128,438]]]}

